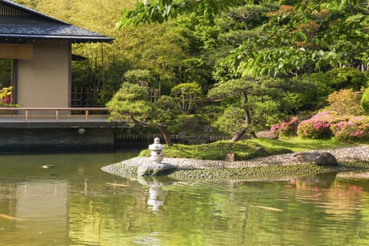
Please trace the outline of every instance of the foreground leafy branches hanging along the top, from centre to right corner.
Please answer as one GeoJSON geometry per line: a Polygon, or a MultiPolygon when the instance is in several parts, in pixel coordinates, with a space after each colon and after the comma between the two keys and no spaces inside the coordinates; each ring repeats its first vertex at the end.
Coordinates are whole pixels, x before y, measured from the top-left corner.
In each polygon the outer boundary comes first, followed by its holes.
{"type": "MultiPolygon", "coordinates": [[[[269,13],[261,32],[244,39],[225,64],[252,77],[299,76],[332,67],[366,66],[369,15],[365,0],[290,2],[269,13]]],[[[143,1],[134,11],[123,11],[117,27],[162,23],[189,12],[219,15],[242,4],[245,2],[240,0],[143,1]]],[[[229,11],[228,15],[235,13],[229,11]]],[[[246,25],[247,29],[252,27],[246,25]]]]}

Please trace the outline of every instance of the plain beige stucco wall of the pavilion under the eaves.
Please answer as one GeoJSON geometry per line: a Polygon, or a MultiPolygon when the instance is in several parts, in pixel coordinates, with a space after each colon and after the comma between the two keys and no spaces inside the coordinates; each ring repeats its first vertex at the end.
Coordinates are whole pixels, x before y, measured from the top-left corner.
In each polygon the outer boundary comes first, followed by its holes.
{"type": "Polygon", "coordinates": [[[36,41],[33,48],[33,59],[18,60],[16,103],[22,107],[70,107],[69,42],[36,41]]]}

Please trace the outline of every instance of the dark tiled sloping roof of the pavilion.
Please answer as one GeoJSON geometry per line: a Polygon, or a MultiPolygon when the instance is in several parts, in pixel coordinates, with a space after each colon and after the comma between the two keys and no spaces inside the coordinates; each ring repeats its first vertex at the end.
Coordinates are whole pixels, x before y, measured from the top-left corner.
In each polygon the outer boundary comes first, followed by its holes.
{"type": "Polygon", "coordinates": [[[72,42],[112,42],[103,34],[70,25],[12,1],[0,0],[0,40],[65,39],[72,42]],[[8,9],[15,11],[8,11],[8,9]],[[9,12],[9,13],[8,13],[9,12]]]}

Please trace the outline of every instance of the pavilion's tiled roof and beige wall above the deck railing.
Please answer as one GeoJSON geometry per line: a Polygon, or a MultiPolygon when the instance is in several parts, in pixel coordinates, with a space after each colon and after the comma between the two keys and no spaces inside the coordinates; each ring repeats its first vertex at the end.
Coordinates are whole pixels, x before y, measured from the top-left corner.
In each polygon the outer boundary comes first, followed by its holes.
{"type": "Polygon", "coordinates": [[[13,86],[12,103],[22,107],[69,108],[72,44],[112,41],[13,1],[0,0],[0,59],[13,62],[11,82],[6,85],[13,86]]]}

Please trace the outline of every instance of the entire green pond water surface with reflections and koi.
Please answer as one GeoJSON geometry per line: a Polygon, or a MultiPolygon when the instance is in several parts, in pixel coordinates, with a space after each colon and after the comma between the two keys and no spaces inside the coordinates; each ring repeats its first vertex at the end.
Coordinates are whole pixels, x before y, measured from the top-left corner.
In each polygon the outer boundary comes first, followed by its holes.
{"type": "Polygon", "coordinates": [[[134,156],[1,155],[0,245],[369,245],[369,174],[147,181],[100,170],[134,156]]]}

